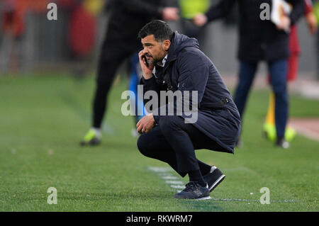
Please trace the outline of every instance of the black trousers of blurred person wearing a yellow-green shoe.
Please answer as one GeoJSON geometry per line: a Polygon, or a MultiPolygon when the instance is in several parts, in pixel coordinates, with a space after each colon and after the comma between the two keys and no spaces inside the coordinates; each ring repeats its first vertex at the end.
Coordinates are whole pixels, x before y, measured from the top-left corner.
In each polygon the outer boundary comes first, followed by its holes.
{"type": "Polygon", "coordinates": [[[113,31],[109,30],[103,42],[96,79],[96,90],[93,101],[92,126],[101,128],[101,123],[106,112],[107,96],[111,89],[116,71],[123,60],[141,49],[137,38],[130,41],[113,37],[113,31]]]}

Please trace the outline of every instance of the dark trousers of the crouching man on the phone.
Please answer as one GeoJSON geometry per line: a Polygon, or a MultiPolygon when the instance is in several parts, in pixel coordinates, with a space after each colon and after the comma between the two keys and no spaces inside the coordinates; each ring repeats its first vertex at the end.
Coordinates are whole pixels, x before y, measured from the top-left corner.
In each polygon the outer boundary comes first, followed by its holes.
{"type": "MultiPolygon", "coordinates": [[[[159,125],[140,135],[138,149],[146,157],[166,162],[182,177],[189,171],[205,171],[208,164],[196,159],[195,149],[220,149],[220,145],[192,124],[175,116],[161,116],[159,125]]],[[[206,170],[207,171],[207,170],[206,170]]]]}

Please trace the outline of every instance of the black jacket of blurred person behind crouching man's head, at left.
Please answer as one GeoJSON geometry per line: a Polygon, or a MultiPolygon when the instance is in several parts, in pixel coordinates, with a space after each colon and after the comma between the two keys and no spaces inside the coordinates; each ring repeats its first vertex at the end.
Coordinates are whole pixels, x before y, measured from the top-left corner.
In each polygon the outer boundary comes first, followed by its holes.
{"type": "Polygon", "coordinates": [[[123,45],[140,45],[138,32],[146,23],[162,18],[163,6],[161,0],[113,1],[108,19],[108,40],[123,45]]]}

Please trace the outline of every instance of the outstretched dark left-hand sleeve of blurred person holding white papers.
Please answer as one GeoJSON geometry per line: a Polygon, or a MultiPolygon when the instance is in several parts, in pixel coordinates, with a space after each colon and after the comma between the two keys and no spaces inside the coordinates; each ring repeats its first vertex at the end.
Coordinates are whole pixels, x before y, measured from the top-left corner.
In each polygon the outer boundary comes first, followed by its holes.
{"type": "Polygon", "coordinates": [[[205,13],[208,22],[227,16],[233,8],[236,0],[221,0],[218,4],[211,6],[205,13]]]}

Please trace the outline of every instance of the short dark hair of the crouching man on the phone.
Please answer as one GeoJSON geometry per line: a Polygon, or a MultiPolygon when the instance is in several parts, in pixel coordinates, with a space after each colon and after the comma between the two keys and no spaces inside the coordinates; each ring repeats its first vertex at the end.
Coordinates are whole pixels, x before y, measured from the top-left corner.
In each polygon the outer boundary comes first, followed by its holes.
{"type": "Polygon", "coordinates": [[[165,21],[155,20],[147,23],[138,33],[138,38],[145,38],[154,35],[155,40],[161,43],[164,40],[171,40],[174,32],[165,21]]]}

